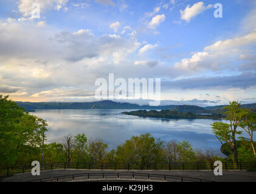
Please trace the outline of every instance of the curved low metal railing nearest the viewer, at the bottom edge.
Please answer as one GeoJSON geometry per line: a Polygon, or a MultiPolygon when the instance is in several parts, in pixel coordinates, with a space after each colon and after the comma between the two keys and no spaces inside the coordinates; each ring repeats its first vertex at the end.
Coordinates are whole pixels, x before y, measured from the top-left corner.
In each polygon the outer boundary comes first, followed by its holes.
{"type": "Polygon", "coordinates": [[[132,179],[151,181],[179,181],[179,182],[214,182],[207,179],[192,178],[188,176],[161,175],[138,172],[102,172],[102,173],[80,173],[74,175],[61,175],[49,178],[33,179],[28,182],[60,182],[60,181],[89,181],[93,179],[132,179]]]}

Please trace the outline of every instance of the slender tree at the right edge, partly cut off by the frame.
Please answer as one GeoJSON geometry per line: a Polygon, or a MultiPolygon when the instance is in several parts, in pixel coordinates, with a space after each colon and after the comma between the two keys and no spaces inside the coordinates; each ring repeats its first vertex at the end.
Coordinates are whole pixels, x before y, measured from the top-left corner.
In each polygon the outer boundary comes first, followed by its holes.
{"type": "MultiPolygon", "coordinates": [[[[252,114],[251,110],[244,110],[245,115],[243,121],[240,122],[239,127],[241,127],[249,135],[249,141],[251,142],[252,150],[256,156],[256,150],[254,147],[254,140],[252,138],[253,133],[256,131],[256,113],[252,114]]],[[[243,137],[243,139],[246,139],[243,137]]]]}

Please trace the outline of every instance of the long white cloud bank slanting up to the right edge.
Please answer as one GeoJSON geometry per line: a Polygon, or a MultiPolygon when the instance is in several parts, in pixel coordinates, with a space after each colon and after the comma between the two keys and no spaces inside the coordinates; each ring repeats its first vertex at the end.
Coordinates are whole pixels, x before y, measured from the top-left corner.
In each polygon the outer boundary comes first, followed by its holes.
{"type": "Polygon", "coordinates": [[[230,61],[244,60],[245,56],[251,58],[251,55],[244,55],[247,54],[244,47],[250,45],[256,45],[256,29],[244,36],[217,41],[205,47],[204,51],[194,53],[191,58],[176,62],[175,67],[192,72],[202,69],[220,70],[220,65],[228,64],[230,61]]]}

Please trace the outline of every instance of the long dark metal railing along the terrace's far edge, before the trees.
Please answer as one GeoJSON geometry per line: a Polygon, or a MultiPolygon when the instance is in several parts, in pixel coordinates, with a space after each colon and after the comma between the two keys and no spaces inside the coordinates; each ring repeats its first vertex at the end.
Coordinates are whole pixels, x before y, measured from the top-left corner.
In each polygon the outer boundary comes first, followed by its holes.
{"type": "MultiPolygon", "coordinates": [[[[170,162],[170,163],[125,163],[125,162],[52,162],[41,170],[85,169],[85,170],[213,170],[213,162],[170,162]]],[[[32,166],[19,166],[0,170],[1,175],[10,176],[31,172],[32,166]]],[[[256,162],[223,162],[223,170],[256,170],[256,162]]]]}

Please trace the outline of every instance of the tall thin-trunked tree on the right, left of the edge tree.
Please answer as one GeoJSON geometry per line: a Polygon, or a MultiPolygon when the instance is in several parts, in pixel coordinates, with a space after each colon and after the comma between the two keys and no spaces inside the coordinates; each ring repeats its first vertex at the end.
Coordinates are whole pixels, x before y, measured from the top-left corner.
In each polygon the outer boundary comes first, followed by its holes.
{"type": "Polygon", "coordinates": [[[229,102],[229,105],[223,108],[227,110],[224,112],[224,115],[226,116],[225,119],[229,121],[229,124],[224,122],[213,122],[213,124],[211,124],[212,131],[216,138],[221,142],[221,145],[226,142],[230,146],[236,165],[238,162],[238,155],[235,135],[241,135],[242,133],[237,130],[237,127],[245,114],[244,110],[240,109],[240,105],[240,103],[233,101],[229,102]]]}

